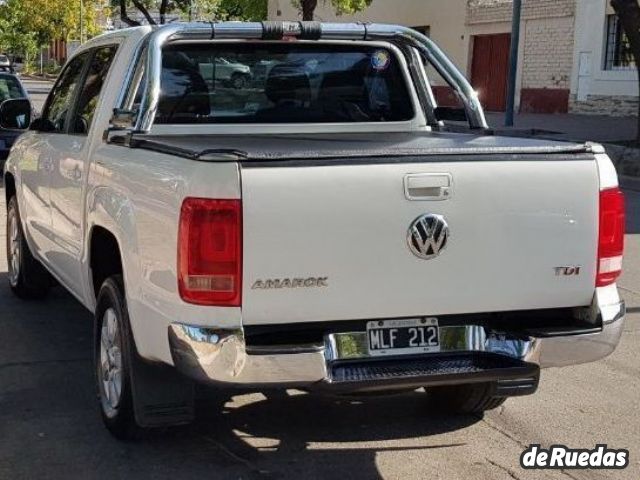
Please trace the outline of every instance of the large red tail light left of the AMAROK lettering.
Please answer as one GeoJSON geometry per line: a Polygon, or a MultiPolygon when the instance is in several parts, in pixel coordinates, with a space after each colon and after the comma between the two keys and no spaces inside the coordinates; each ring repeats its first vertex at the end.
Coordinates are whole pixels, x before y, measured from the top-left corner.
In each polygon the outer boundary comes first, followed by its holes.
{"type": "Polygon", "coordinates": [[[238,307],[242,287],[242,203],[187,198],[180,212],[178,288],[185,302],[238,307]]]}

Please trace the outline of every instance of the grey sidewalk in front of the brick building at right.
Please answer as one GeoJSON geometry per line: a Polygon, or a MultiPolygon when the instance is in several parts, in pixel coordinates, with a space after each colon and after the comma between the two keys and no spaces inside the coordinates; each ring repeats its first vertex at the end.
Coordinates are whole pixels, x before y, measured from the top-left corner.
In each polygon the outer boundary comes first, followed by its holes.
{"type": "Polygon", "coordinates": [[[504,113],[487,113],[487,123],[496,134],[602,143],[620,175],[640,177],[640,149],[613,144],[635,139],[635,117],[522,113],[506,128],[504,113]]]}

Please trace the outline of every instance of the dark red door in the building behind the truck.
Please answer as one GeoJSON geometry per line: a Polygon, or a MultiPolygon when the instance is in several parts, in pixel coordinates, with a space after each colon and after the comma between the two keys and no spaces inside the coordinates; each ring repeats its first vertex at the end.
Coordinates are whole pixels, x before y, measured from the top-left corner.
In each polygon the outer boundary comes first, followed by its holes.
{"type": "Polygon", "coordinates": [[[488,111],[504,112],[506,108],[510,48],[509,33],[473,37],[471,83],[488,111]]]}

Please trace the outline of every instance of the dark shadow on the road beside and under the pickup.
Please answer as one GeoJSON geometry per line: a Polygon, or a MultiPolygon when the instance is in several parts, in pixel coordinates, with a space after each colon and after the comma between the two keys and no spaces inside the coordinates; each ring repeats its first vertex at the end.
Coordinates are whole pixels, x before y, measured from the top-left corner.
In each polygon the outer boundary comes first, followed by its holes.
{"type": "Polygon", "coordinates": [[[376,453],[456,448],[429,436],[478,421],[430,416],[419,392],[267,399],[208,389],[196,424],[120,443],[99,419],[91,315],[61,288],[17,300],[6,272],[0,305],[0,478],[379,478],[376,453]],[[417,446],[394,445],[408,438],[417,446]]]}

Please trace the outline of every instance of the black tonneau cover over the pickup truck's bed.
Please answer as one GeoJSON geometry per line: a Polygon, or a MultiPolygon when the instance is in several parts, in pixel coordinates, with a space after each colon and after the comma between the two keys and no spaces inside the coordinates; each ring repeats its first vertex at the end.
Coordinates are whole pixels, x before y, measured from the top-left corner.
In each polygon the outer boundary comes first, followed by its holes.
{"type": "MultiPolygon", "coordinates": [[[[200,161],[295,162],[378,159],[407,162],[411,157],[452,156],[460,160],[540,160],[591,158],[588,144],[449,132],[314,133],[265,135],[116,135],[111,143],[200,161]]],[[[447,158],[445,161],[452,161],[447,158]]],[[[422,160],[424,161],[424,159],[422,160]]]]}

